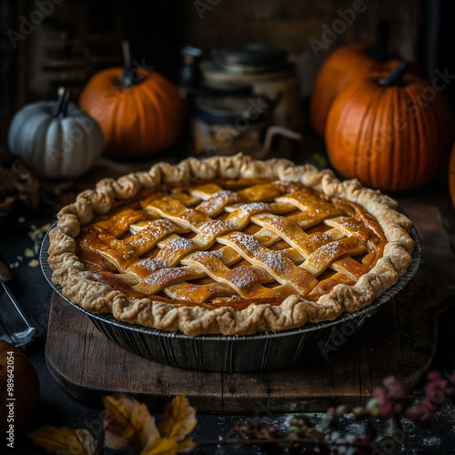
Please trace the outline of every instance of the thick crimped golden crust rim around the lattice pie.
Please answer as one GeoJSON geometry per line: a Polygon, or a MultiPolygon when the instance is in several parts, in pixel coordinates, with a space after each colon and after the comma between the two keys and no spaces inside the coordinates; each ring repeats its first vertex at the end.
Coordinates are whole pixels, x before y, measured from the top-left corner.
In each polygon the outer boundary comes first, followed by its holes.
{"type": "Polygon", "coordinates": [[[148,171],[118,179],[105,178],[95,190],[86,190],[76,202],[62,208],[57,225],[49,233],[48,263],[52,280],[63,295],[94,314],[112,313],[116,319],[191,337],[205,334],[250,335],[262,331],[295,329],[308,322],[336,319],[344,311],[356,311],[378,298],[395,284],[409,267],[414,242],[411,222],[396,211],[397,203],[379,191],[362,187],[358,180],[340,182],[330,170],[311,165],[296,166],[283,158],[258,161],[238,154],[234,157],[187,158],[177,165],[157,163],[148,171]],[[388,240],[383,257],[353,286],[339,284],[318,302],[290,296],[278,306],[250,305],[240,311],[223,307],[177,307],[150,298],[130,300],[124,293],[100,283],[84,269],[76,256],[76,238],[95,214],[105,214],[118,199],[133,197],[142,187],[156,187],[171,181],[217,177],[263,177],[293,180],[306,187],[357,202],[376,217],[388,240]]]}

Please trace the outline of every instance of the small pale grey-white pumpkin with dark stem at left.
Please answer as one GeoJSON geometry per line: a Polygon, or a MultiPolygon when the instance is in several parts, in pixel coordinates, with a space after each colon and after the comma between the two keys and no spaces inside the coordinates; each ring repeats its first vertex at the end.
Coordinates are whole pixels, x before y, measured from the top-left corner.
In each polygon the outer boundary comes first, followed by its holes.
{"type": "Polygon", "coordinates": [[[40,177],[79,177],[96,164],[103,132],[94,118],[59,89],[57,101],[37,101],[19,109],[8,130],[8,147],[40,177]]]}

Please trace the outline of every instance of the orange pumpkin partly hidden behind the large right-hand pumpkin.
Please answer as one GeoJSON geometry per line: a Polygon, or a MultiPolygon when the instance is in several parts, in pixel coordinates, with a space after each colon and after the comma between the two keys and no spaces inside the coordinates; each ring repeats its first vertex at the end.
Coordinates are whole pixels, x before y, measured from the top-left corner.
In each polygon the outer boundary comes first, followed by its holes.
{"type": "Polygon", "coordinates": [[[386,76],[399,64],[396,58],[386,59],[388,34],[388,25],[382,22],[373,49],[362,43],[343,45],[324,62],[313,83],[309,106],[311,126],[319,136],[324,136],[330,106],[344,87],[365,76],[386,76]]]}

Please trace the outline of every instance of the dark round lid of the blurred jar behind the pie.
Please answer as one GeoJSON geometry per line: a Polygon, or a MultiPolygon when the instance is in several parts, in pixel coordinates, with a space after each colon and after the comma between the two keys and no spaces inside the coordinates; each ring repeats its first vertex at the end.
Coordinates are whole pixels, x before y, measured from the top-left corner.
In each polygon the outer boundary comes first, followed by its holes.
{"type": "Polygon", "coordinates": [[[236,74],[276,71],[288,65],[288,52],[273,45],[242,43],[214,49],[214,62],[236,74]]]}

